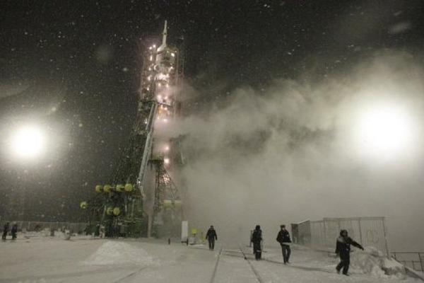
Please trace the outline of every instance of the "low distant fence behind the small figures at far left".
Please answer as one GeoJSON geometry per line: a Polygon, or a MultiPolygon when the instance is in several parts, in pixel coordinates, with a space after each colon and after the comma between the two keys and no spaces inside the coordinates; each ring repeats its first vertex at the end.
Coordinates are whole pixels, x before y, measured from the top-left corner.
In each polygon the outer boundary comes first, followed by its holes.
{"type": "MultiPolygon", "coordinates": [[[[87,223],[83,222],[40,222],[40,221],[3,221],[3,223],[13,223],[18,224],[18,230],[26,231],[41,231],[44,229],[67,229],[73,231],[74,233],[83,233],[86,229],[87,223]]],[[[3,227],[1,227],[3,229],[3,227]]]]}

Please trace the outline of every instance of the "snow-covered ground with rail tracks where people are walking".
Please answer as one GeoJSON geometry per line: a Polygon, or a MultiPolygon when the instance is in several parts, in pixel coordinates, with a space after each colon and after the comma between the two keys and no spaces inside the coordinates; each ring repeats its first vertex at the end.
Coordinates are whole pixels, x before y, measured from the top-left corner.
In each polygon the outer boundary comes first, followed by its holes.
{"type": "MultiPolygon", "coordinates": [[[[268,248],[253,260],[250,248],[209,251],[164,241],[104,240],[46,236],[0,242],[0,282],[421,282],[404,276],[367,272],[353,265],[351,277],[337,275],[337,260],[328,253],[293,246],[291,264],[281,250],[268,248]]],[[[355,260],[353,260],[355,261],[355,260]]]]}

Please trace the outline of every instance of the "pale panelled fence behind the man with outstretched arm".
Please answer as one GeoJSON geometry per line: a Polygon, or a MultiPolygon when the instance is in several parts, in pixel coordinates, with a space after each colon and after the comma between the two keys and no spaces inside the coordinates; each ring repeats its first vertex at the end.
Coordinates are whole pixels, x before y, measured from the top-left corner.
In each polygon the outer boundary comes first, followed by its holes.
{"type": "Polygon", "coordinates": [[[305,246],[334,248],[340,230],[363,246],[373,246],[389,255],[384,217],[324,218],[292,224],[293,239],[305,246]]]}

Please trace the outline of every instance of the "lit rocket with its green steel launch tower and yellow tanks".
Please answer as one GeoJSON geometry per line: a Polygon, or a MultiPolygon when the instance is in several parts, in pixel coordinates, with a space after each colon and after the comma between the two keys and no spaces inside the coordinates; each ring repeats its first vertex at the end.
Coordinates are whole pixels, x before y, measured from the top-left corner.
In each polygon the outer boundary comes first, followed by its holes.
{"type": "Polygon", "coordinates": [[[107,237],[176,237],[180,233],[182,200],[170,168],[166,127],[178,115],[178,95],[184,76],[182,38],[167,43],[167,21],[162,43],[143,42],[143,67],[136,121],[119,165],[109,183],[96,185],[96,196],[81,202],[94,233],[107,237]],[[160,134],[155,128],[161,127],[160,134]]]}

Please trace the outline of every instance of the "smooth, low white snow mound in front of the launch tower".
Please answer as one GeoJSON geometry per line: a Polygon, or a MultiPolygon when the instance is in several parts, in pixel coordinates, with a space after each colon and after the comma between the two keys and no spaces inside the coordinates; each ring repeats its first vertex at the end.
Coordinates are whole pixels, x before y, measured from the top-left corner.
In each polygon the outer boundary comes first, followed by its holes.
{"type": "Polygon", "coordinates": [[[128,243],[107,241],[98,250],[83,261],[84,265],[137,265],[153,263],[153,258],[143,248],[128,243]]]}

